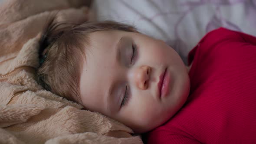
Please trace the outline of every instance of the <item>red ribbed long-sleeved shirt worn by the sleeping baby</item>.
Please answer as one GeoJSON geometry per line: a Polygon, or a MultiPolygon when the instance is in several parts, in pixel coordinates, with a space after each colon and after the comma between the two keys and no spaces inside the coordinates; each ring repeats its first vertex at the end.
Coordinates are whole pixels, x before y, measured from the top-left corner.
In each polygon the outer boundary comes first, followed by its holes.
{"type": "Polygon", "coordinates": [[[256,144],[256,37],[216,29],[188,59],[190,95],[148,144],[256,144]]]}

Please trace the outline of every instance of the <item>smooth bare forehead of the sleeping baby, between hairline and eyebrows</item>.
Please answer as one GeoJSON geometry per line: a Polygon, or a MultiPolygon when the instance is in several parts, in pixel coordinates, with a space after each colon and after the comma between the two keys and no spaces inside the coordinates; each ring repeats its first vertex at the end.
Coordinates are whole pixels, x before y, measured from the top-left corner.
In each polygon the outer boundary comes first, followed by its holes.
{"type": "Polygon", "coordinates": [[[80,78],[83,105],[92,111],[105,113],[106,95],[116,73],[116,45],[121,33],[99,31],[90,34],[90,45],[85,48],[86,60],[80,78]]]}

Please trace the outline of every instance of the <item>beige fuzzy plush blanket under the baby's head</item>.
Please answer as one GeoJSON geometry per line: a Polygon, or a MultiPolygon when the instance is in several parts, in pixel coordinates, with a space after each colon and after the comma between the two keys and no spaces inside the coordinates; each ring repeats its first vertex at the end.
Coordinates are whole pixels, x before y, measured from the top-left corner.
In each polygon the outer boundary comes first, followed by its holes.
{"type": "Polygon", "coordinates": [[[43,90],[35,81],[38,33],[57,20],[89,19],[88,0],[4,0],[0,3],[0,144],[140,144],[132,130],[43,90]]]}

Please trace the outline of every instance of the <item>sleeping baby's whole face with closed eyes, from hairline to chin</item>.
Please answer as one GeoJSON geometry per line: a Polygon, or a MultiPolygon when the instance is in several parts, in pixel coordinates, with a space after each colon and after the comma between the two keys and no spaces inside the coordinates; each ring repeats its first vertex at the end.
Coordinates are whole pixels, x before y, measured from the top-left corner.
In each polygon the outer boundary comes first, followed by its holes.
{"type": "Polygon", "coordinates": [[[140,33],[99,31],[90,34],[85,51],[80,81],[83,105],[136,133],[163,124],[187,99],[187,69],[177,52],[160,40],[140,33]],[[133,45],[137,47],[134,55],[133,45]]]}

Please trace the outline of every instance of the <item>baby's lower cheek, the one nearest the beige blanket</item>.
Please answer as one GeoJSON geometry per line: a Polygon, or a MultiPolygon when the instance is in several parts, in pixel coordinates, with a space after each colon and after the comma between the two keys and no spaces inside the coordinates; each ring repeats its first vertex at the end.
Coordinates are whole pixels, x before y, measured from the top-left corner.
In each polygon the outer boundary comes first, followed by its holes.
{"type": "Polygon", "coordinates": [[[164,109],[151,95],[137,95],[123,113],[126,124],[132,129],[149,131],[165,121],[164,109]]]}

